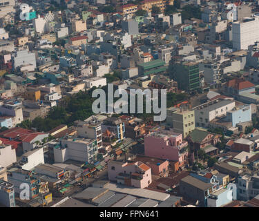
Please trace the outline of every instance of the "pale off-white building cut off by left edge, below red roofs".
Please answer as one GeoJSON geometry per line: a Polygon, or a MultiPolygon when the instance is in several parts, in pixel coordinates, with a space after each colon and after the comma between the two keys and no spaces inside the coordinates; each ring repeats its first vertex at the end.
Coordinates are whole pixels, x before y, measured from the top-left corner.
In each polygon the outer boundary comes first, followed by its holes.
{"type": "Polygon", "coordinates": [[[15,149],[11,145],[5,145],[0,141],[0,165],[7,167],[17,161],[15,149]]]}

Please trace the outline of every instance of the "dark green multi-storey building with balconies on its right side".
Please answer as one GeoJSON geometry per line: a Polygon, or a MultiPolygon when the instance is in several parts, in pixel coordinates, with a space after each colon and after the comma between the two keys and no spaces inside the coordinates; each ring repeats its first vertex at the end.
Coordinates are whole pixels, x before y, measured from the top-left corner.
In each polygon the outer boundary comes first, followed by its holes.
{"type": "Polygon", "coordinates": [[[198,62],[184,61],[171,66],[173,79],[178,82],[181,90],[196,90],[200,88],[200,70],[198,62]]]}

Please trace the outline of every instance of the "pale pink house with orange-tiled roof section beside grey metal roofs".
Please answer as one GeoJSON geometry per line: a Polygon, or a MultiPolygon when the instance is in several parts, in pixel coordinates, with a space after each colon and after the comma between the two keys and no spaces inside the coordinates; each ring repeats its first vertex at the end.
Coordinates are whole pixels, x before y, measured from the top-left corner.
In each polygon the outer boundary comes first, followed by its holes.
{"type": "Polygon", "coordinates": [[[108,162],[108,178],[118,184],[137,188],[146,188],[152,182],[151,168],[140,161],[125,163],[113,160],[108,162]]]}

